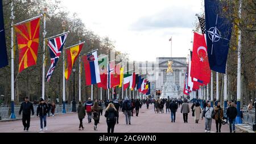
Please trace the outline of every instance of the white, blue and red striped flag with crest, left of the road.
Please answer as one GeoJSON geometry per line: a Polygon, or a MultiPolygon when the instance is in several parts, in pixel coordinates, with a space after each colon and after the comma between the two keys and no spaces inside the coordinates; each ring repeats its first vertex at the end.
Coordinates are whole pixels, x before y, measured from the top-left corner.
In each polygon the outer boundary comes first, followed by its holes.
{"type": "Polygon", "coordinates": [[[100,70],[98,68],[98,55],[97,51],[83,56],[85,68],[86,86],[90,84],[97,84],[101,82],[100,70]]]}

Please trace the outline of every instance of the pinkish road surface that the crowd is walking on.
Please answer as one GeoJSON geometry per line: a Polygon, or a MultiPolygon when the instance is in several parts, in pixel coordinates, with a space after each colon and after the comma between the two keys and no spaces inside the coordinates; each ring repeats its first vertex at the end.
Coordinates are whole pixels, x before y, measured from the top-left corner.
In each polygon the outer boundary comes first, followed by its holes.
{"type": "MultiPolygon", "coordinates": [[[[166,112],[166,109],[164,109],[166,112]]],[[[47,133],[106,133],[106,118],[100,117],[98,130],[93,130],[94,121],[88,124],[87,116],[83,120],[84,130],[79,130],[79,119],[77,113],[67,113],[55,115],[55,117],[47,117],[47,133]]],[[[39,117],[31,118],[30,129],[28,132],[23,131],[22,120],[2,121],[0,122],[1,133],[38,133],[40,129],[39,117]]],[[[215,121],[212,121],[212,133],[216,131],[215,121]]],[[[139,110],[139,116],[131,117],[131,125],[126,125],[125,115],[119,113],[119,124],[115,125],[115,133],[204,133],[204,120],[199,120],[199,124],[195,123],[192,113],[188,114],[188,123],[183,122],[183,115],[180,108],[176,113],[176,121],[171,122],[170,113],[155,113],[154,104],[146,109],[146,105],[139,110]]],[[[222,125],[222,133],[229,133],[229,126],[222,125]]],[[[236,129],[237,133],[242,130],[236,129]]]]}

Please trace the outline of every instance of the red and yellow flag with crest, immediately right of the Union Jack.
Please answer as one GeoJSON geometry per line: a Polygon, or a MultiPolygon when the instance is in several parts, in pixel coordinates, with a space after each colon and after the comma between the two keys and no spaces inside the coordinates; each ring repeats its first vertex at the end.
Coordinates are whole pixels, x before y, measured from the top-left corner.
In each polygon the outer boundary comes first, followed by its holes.
{"type": "Polygon", "coordinates": [[[67,67],[67,69],[65,69],[65,78],[67,80],[69,79],[69,76],[72,73],[72,67],[76,61],[76,58],[79,56],[83,45],[84,45],[84,43],[80,43],[80,44],[71,46],[70,48],[66,49],[68,67],[67,67]]]}

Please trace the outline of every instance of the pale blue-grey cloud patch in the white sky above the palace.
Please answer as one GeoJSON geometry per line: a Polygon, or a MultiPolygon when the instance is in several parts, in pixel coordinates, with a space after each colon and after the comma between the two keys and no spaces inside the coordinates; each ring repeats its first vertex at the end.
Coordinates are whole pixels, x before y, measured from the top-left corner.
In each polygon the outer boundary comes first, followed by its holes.
{"type": "Polygon", "coordinates": [[[144,16],[130,27],[134,31],[144,31],[156,28],[191,28],[195,14],[188,7],[170,7],[158,14],[144,16]]]}

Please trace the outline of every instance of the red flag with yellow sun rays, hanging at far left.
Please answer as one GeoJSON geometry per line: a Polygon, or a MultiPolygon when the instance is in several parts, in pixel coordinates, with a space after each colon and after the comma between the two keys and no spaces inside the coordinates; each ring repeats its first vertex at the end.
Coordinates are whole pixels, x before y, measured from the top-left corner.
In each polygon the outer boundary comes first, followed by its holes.
{"type": "Polygon", "coordinates": [[[19,47],[19,73],[36,65],[38,58],[40,18],[14,26],[19,47]]]}

